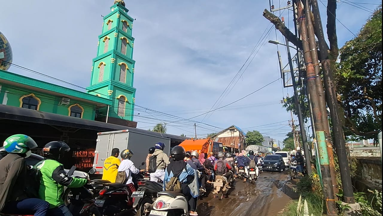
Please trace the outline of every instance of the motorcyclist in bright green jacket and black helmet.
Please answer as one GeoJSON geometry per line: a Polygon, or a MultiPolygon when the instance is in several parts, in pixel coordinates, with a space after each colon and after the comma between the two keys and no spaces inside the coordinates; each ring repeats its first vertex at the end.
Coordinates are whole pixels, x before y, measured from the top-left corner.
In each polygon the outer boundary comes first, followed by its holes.
{"type": "Polygon", "coordinates": [[[69,151],[69,146],[62,141],[52,141],[43,148],[46,158],[38,162],[34,167],[41,171],[41,185],[39,198],[47,201],[50,205],[49,214],[55,216],[72,216],[67,206],[64,205],[64,186],[69,188],[82,187],[88,179],[70,177],[64,166],[59,162],[69,151]]]}

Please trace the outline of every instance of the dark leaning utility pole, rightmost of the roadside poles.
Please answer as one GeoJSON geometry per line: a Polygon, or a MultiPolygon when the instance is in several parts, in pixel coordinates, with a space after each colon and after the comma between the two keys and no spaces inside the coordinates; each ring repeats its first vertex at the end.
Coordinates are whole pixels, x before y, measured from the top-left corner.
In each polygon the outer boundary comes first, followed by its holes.
{"type": "MultiPolygon", "coordinates": [[[[335,0],[329,0],[335,1],[335,0]]],[[[321,15],[319,13],[318,1],[311,0],[311,5],[313,7],[313,15],[315,22],[315,30],[316,35],[318,37],[319,42],[319,53],[321,54],[321,63],[322,63],[322,71],[323,71],[323,80],[325,86],[325,95],[327,106],[330,108],[331,115],[331,123],[332,123],[332,131],[334,137],[334,145],[335,150],[338,156],[339,161],[339,170],[340,177],[342,179],[342,188],[343,188],[343,197],[345,203],[355,203],[354,191],[352,188],[352,181],[350,175],[350,167],[349,160],[347,158],[347,151],[344,140],[344,131],[342,128],[341,120],[339,118],[339,105],[336,96],[336,88],[334,85],[334,78],[332,75],[332,69],[334,66],[331,64],[331,60],[329,58],[328,50],[329,47],[327,42],[324,39],[321,15]]],[[[308,6],[309,7],[309,6],[308,6]]],[[[335,3],[336,7],[336,3],[335,3]]],[[[337,48],[336,48],[337,49],[337,48]]],[[[333,56],[333,58],[336,58],[333,56]]]]}

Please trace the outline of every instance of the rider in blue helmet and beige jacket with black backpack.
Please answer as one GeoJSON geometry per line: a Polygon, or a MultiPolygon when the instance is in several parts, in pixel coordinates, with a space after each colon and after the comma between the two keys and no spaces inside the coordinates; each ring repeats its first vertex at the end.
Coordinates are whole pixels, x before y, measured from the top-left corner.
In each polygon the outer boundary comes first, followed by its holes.
{"type": "Polygon", "coordinates": [[[169,157],[164,153],[165,143],[155,143],[154,148],[154,153],[149,158],[150,180],[153,182],[164,181],[165,167],[169,164],[169,157]]]}

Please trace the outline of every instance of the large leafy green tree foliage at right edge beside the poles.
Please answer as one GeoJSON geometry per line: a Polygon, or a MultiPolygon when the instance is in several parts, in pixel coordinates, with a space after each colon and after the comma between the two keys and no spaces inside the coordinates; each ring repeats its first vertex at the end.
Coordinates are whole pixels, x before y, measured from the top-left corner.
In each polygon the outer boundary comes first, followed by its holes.
{"type": "Polygon", "coordinates": [[[357,37],[340,49],[334,74],[344,109],[345,135],[376,138],[382,125],[382,11],[368,19],[357,37]]]}

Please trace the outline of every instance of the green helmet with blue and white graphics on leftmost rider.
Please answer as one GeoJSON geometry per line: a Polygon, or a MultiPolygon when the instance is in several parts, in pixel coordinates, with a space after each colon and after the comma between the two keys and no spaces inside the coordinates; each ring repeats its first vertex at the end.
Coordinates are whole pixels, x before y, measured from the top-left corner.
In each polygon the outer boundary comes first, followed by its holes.
{"type": "Polygon", "coordinates": [[[30,136],[15,134],[5,139],[3,146],[8,153],[25,154],[37,144],[30,136]]]}

